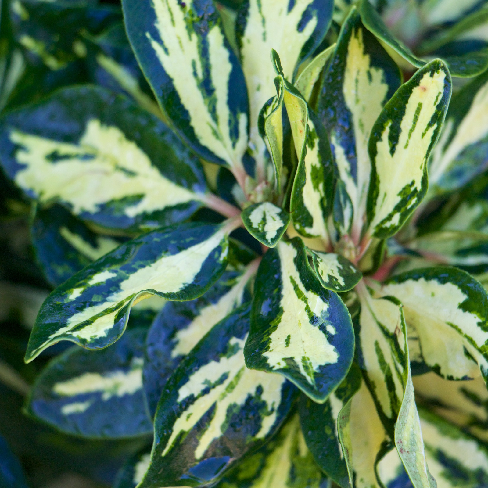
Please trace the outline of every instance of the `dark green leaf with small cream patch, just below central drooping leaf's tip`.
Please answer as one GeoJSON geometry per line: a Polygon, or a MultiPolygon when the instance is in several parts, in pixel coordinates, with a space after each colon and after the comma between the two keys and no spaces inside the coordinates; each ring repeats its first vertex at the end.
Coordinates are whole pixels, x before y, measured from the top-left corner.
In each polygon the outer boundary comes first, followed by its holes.
{"type": "Polygon", "coordinates": [[[305,441],[315,461],[342,488],[349,488],[346,462],[339,442],[337,418],[342,407],[361,386],[361,371],[352,363],[344,381],[323,405],[304,394],[298,404],[305,441]]]}

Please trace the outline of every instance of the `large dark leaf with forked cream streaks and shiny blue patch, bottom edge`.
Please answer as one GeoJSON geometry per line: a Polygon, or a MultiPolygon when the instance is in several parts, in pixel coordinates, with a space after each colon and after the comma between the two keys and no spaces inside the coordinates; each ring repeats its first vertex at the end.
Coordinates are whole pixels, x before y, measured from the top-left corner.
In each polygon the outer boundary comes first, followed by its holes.
{"type": "Polygon", "coordinates": [[[211,485],[285,419],[296,388],[282,375],[245,366],[249,311],[243,305],[215,325],[169,378],[140,488],[211,485]]]}

